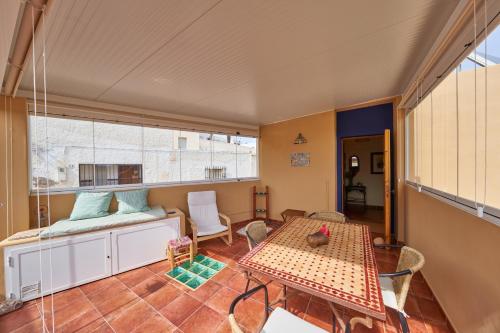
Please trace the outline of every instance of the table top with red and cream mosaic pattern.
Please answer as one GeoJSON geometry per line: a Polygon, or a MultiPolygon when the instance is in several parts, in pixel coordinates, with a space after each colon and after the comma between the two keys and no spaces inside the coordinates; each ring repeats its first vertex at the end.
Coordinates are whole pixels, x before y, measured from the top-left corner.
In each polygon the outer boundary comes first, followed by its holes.
{"type": "Polygon", "coordinates": [[[247,271],[327,301],[385,320],[375,253],[368,227],[294,217],[238,262],[247,271]],[[306,236],[326,224],[327,245],[306,236]]]}

